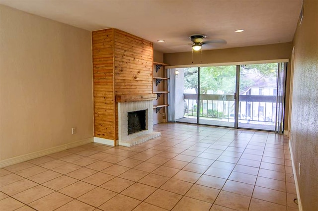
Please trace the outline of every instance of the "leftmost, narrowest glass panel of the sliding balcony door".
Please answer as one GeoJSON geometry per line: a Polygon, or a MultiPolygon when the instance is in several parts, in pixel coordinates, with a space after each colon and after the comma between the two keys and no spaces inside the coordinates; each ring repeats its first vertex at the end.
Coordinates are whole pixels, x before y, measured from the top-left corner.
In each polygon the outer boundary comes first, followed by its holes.
{"type": "Polygon", "coordinates": [[[198,123],[198,67],[177,68],[175,118],[178,122],[198,123]]]}

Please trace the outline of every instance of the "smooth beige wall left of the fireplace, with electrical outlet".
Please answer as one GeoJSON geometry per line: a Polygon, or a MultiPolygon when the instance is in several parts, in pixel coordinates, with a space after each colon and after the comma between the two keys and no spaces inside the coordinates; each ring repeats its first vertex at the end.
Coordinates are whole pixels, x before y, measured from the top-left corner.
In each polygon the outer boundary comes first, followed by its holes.
{"type": "Polygon", "coordinates": [[[90,32],[3,5],[0,29],[0,160],[93,137],[90,32]]]}

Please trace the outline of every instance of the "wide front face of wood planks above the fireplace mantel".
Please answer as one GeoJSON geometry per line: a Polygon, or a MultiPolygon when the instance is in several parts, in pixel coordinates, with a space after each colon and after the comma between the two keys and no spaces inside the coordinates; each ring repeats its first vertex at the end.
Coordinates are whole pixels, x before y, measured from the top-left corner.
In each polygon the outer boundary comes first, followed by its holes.
{"type": "MultiPolygon", "coordinates": [[[[151,94],[153,43],[118,29],[115,29],[114,34],[115,95],[151,94]]],[[[117,110],[117,104],[115,109],[117,110]]],[[[116,112],[116,124],[117,121],[116,112]]]]}

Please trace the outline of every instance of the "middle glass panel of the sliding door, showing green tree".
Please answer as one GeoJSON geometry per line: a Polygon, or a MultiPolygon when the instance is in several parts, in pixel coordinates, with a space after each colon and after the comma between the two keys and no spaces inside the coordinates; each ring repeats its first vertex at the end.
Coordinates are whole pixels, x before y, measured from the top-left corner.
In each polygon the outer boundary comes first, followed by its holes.
{"type": "Polygon", "coordinates": [[[236,66],[199,67],[199,123],[234,127],[236,66]]]}

